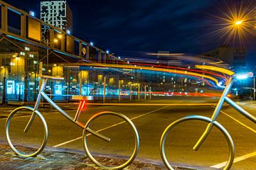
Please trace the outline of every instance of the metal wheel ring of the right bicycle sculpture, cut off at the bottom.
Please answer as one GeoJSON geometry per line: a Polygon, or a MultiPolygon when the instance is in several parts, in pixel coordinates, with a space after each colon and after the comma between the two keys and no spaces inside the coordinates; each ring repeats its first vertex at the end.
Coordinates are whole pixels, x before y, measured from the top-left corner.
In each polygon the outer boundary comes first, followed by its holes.
{"type": "Polygon", "coordinates": [[[174,121],[173,123],[171,123],[164,130],[164,132],[161,136],[161,141],[160,141],[160,154],[161,154],[161,159],[163,160],[166,167],[171,170],[174,169],[171,166],[171,164],[169,163],[169,160],[166,158],[166,151],[165,151],[166,137],[169,135],[169,132],[171,131],[171,129],[173,129],[176,125],[183,123],[185,121],[189,121],[189,120],[199,120],[199,121],[203,121],[206,123],[213,123],[213,125],[216,128],[218,128],[218,130],[220,130],[220,132],[222,132],[222,134],[225,136],[225,140],[228,142],[228,147],[229,147],[228,148],[229,149],[228,162],[225,164],[223,169],[225,169],[225,170],[230,169],[230,167],[233,164],[234,154],[235,154],[235,147],[234,147],[232,137],[230,137],[230,134],[228,133],[228,131],[225,130],[225,128],[222,125],[220,125],[220,123],[218,123],[217,121],[212,122],[212,120],[210,120],[210,118],[207,118],[207,117],[201,116],[201,115],[189,115],[189,116],[183,117],[181,119],[178,119],[178,120],[174,121]]]}

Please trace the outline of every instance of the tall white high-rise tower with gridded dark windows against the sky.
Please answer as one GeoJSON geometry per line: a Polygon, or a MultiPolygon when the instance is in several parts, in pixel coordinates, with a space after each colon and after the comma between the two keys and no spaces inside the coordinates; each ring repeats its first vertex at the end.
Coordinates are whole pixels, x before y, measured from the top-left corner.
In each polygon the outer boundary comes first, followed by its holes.
{"type": "Polygon", "coordinates": [[[41,20],[72,33],[73,13],[67,1],[41,1],[41,20]]]}

